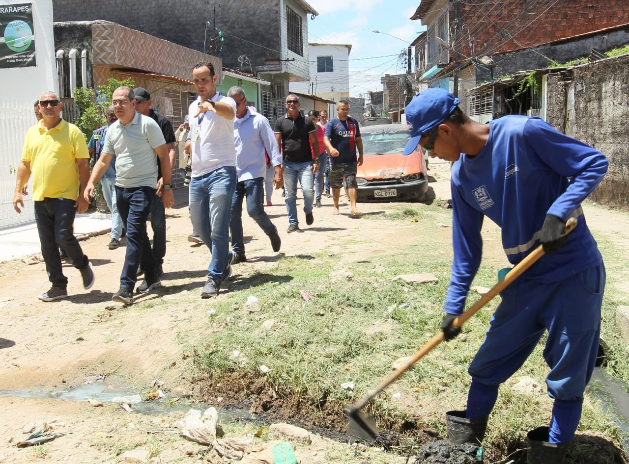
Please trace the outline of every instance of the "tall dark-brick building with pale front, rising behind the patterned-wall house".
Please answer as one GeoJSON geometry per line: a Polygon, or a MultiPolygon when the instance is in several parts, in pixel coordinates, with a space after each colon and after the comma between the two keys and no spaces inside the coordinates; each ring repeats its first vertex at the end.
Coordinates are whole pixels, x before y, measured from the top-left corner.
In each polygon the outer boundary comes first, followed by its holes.
{"type": "MultiPolygon", "coordinates": [[[[259,109],[273,123],[284,114],[289,82],[309,80],[305,0],[55,0],[55,21],[104,19],[223,60],[234,70],[268,80],[259,109]]],[[[132,46],[132,44],[130,44],[132,46]]],[[[190,63],[192,68],[194,63],[190,63]]],[[[192,73],[192,69],[191,69],[192,73]]]]}

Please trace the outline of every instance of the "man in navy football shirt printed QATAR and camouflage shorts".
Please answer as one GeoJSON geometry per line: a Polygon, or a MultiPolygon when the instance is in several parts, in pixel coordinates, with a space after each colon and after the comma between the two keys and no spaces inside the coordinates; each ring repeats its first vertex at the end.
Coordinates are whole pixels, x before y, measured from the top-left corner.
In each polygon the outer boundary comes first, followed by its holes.
{"type": "Polygon", "coordinates": [[[352,205],[351,217],[360,217],[362,213],[356,209],[358,184],[356,183],[357,166],[362,165],[362,139],[358,121],[348,116],[350,105],[347,100],[340,100],[337,104],[337,117],[328,122],[325,127],[323,143],[330,153],[330,186],[334,199],[334,212],[338,214],[338,197],[341,194],[343,176],[347,181],[347,194],[352,205]],[[356,159],[358,148],[358,159],[356,159]]]}

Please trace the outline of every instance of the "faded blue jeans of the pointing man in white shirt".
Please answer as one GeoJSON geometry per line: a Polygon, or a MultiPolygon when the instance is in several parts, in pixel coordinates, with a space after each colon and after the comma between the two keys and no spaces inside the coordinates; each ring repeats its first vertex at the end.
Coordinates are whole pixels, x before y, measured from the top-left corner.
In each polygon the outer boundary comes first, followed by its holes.
{"type": "Polygon", "coordinates": [[[231,198],[236,182],[234,166],[223,166],[204,176],[193,177],[190,182],[192,227],[212,254],[208,279],[213,279],[217,285],[227,277],[231,198]]]}

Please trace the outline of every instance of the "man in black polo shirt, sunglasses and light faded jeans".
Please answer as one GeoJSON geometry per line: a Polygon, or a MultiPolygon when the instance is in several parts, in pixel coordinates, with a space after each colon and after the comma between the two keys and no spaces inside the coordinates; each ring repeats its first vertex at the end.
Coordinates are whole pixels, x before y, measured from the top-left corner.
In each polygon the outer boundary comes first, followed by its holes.
{"type": "Polygon", "coordinates": [[[313,159],[313,153],[319,153],[315,124],[299,112],[299,97],[289,94],[286,97],[287,113],[277,118],[275,135],[277,144],[284,159],[284,190],[286,191],[286,211],[288,213],[289,234],[299,230],[297,219],[297,181],[304,195],[304,213],[306,224],[311,225],[313,217],[313,200],[315,200],[315,173],[319,167],[319,159],[313,159]],[[312,144],[314,151],[311,151],[312,144]]]}

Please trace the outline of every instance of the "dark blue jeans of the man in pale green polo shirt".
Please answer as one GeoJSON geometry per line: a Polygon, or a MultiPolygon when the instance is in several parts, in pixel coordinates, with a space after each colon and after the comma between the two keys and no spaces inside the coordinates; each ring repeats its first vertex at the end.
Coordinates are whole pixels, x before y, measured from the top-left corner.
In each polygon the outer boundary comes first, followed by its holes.
{"type": "Polygon", "coordinates": [[[142,264],[147,282],[157,280],[157,264],[147,235],[147,219],[155,198],[152,187],[119,187],[116,185],[118,212],[126,229],[126,254],[120,288],[133,291],[137,281],[138,266],[142,264]]]}

